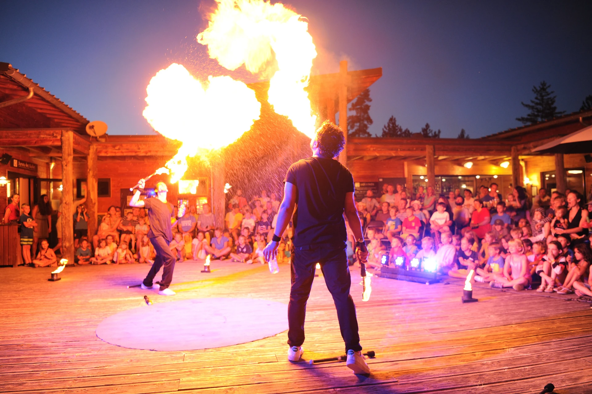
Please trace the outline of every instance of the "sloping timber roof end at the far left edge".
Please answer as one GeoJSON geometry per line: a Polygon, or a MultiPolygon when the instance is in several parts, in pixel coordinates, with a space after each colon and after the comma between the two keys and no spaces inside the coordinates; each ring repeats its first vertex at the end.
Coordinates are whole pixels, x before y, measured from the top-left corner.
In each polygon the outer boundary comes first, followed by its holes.
{"type": "Polygon", "coordinates": [[[27,101],[0,108],[0,128],[67,128],[85,133],[88,120],[9,63],[0,63],[0,102],[34,95],[27,101]]]}

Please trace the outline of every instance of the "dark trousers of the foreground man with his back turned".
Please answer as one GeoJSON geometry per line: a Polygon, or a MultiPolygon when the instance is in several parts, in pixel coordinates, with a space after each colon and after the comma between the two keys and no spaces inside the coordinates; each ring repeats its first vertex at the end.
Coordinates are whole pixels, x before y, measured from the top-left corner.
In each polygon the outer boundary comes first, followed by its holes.
{"type": "Polygon", "coordinates": [[[304,343],[306,302],[313,285],[314,270],[319,263],[327,289],[333,296],[337,309],[337,319],[339,319],[341,336],[345,341],[345,350],[346,352],[350,349],[362,350],[358,335],[356,306],[349,294],[352,279],[345,248],[345,244],[314,244],[292,248],[290,267],[292,288],[288,303],[288,344],[290,346],[300,346],[304,343]]]}

